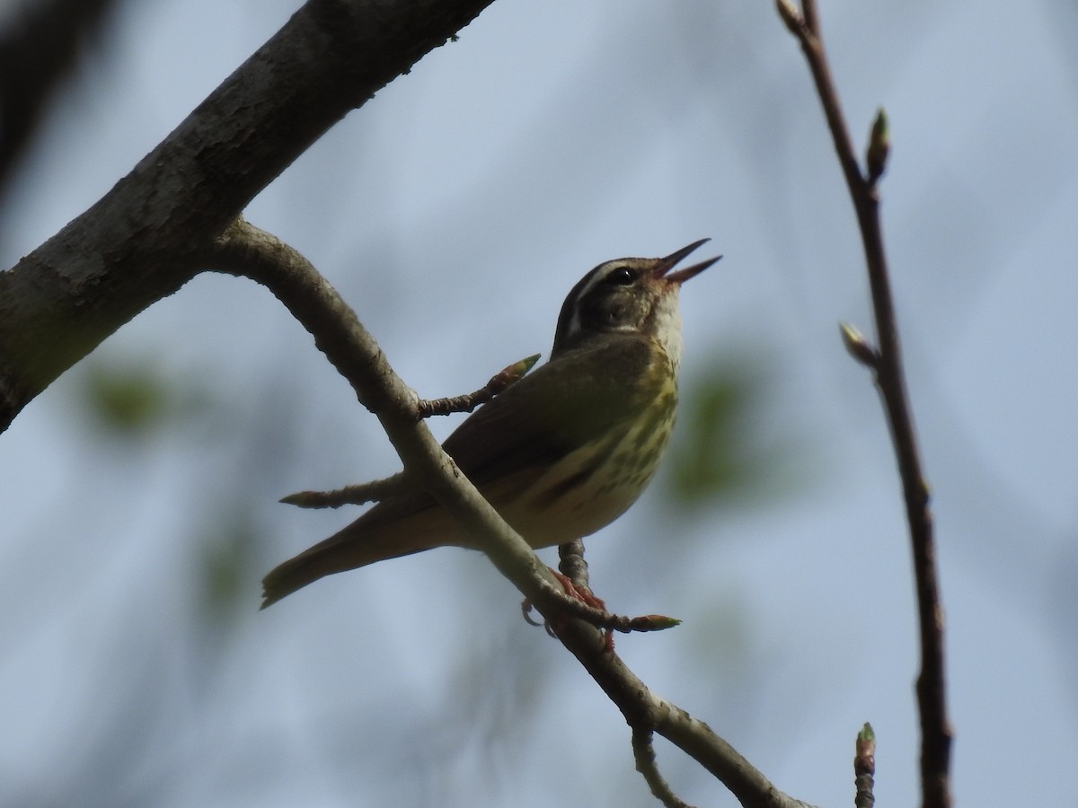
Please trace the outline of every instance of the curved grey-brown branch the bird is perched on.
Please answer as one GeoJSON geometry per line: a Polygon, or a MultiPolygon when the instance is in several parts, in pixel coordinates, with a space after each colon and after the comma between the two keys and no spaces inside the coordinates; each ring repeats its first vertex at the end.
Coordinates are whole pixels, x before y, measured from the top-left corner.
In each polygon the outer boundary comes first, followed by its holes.
{"type": "Polygon", "coordinates": [[[636,732],[649,727],[696,760],[746,808],[803,808],[701,721],[655,696],[621,658],[605,650],[595,626],[564,619],[584,607],[566,597],[536,554],[483,499],[416,417],[416,396],[393,373],[373,337],[333,288],[295,250],[235,221],[206,256],[218,268],[268,288],[310,332],[315,344],[375,414],[401,456],[405,473],[475,538],[490,561],[550,621],[557,638],[580,660],[636,732]]]}

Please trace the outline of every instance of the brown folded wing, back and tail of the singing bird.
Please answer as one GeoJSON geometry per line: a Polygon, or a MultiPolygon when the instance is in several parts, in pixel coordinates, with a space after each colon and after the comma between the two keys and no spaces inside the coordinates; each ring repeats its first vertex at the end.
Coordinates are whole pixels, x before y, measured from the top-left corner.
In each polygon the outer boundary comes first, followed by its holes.
{"type": "MultiPolygon", "coordinates": [[[[497,507],[548,463],[647,406],[640,379],[654,358],[632,336],[563,353],[480,407],[443,447],[497,507]]],[[[262,608],[323,575],[441,544],[467,546],[468,535],[426,491],[402,492],[272,570],[262,608]]]]}

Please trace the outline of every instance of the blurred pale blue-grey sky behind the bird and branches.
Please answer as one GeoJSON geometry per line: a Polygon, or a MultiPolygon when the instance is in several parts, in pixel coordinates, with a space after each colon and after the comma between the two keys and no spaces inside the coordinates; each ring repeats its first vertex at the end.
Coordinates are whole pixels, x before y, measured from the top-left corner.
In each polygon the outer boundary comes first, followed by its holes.
{"type": "MultiPolygon", "coordinates": [[[[0,215],[0,266],[106,193],[298,8],[127,2],[60,95],[0,215]]],[[[883,106],[883,223],[946,614],[954,791],[1078,805],[1078,12],[821,4],[856,142],[883,106]]],[[[871,333],[853,210],[770,2],[501,0],[253,200],[420,394],[549,351],[596,264],[699,238],[669,468],[589,541],[660,695],[784,791],[914,805],[913,584],[895,461],[838,323],[871,333]],[[734,391],[686,499],[694,402],[734,391]],[[678,454],[680,452],[680,455],[678,454]]],[[[455,421],[432,424],[445,435],[455,421]]],[[[206,274],[0,435],[0,802],[653,805],[628,730],[479,554],[333,576],[258,612],[265,571],[351,516],[277,500],[399,468],[264,290],[206,274]],[[110,379],[161,415],[102,422],[110,379]],[[58,762],[63,762],[59,763],[58,762]]],[[[554,562],[552,551],[542,553],[554,562]]],[[[686,800],[730,805],[664,742],[686,800]]]]}

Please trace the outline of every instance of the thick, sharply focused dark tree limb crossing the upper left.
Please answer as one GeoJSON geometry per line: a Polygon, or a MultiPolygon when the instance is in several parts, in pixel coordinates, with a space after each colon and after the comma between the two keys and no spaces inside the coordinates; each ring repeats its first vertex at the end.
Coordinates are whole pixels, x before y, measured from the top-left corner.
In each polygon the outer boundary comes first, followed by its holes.
{"type": "Polygon", "coordinates": [[[490,0],[308,0],[97,204],[0,273],[0,431],[203,267],[208,245],[330,126],[490,0]]]}

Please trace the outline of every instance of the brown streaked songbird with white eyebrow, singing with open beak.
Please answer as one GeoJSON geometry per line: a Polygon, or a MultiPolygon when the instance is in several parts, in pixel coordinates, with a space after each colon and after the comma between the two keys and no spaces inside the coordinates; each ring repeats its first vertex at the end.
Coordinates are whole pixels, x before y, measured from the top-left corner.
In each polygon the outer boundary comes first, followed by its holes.
{"type": "MultiPolygon", "coordinates": [[[[548,362],[442,444],[534,548],[606,527],[659,468],[677,408],[678,292],[722,256],[674,267],[708,240],[665,257],[607,261],[584,275],[562,305],[548,362]]],[[[478,548],[431,494],[404,487],[273,569],[261,608],[326,575],[440,546],[478,548]]]]}

